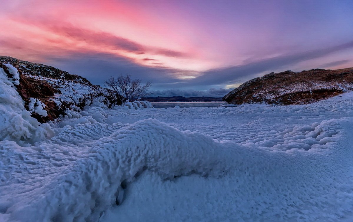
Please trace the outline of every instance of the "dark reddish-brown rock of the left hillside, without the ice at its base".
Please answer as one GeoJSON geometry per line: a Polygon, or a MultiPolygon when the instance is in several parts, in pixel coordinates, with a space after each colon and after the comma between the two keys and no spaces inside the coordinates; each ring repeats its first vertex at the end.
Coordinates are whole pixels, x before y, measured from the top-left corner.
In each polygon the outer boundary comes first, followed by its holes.
{"type": "Polygon", "coordinates": [[[70,110],[80,111],[95,101],[109,108],[121,104],[112,90],[52,66],[0,56],[0,69],[14,81],[25,108],[42,123],[70,115],[70,110]]]}

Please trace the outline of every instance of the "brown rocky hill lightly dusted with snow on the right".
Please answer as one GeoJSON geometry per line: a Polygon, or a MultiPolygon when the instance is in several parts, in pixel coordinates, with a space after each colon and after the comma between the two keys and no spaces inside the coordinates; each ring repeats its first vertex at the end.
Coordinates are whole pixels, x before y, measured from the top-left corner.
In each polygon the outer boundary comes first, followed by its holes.
{"type": "Polygon", "coordinates": [[[270,73],[241,84],[223,97],[230,104],[307,104],[353,90],[353,68],[270,73]]]}

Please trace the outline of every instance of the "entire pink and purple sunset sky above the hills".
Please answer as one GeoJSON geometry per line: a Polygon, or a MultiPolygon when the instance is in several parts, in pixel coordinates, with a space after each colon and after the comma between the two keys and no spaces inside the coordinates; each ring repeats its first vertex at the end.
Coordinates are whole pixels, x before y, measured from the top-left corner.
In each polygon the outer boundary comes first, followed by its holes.
{"type": "Polygon", "coordinates": [[[0,0],[0,55],[152,96],[222,97],[270,72],[353,66],[353,1],[0,0]]]}

